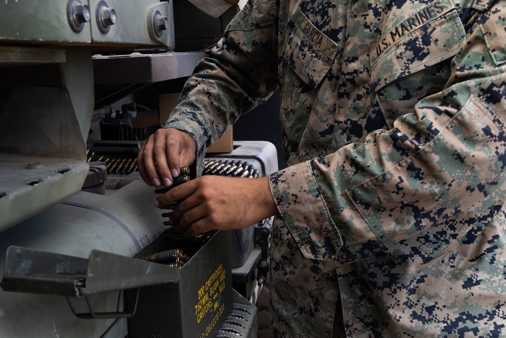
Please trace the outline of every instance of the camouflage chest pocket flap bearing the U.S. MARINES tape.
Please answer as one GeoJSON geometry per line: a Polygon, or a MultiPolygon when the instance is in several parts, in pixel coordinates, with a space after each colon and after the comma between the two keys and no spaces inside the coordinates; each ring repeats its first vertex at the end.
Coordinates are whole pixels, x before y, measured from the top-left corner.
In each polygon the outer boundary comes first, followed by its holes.
{"type": "Polygon", "coordinates": [[[372,89],[457,53],[466,32],[449,0],[434,2],[392,28],[371,52],[372,89]]]}

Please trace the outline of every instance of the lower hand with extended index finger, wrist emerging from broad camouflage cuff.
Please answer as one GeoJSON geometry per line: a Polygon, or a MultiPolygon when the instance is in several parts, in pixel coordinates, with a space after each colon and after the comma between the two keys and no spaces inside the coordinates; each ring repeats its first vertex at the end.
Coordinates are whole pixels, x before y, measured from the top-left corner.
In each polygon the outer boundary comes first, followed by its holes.
{"type": "Polygon", "coordinates": [[[155,205],[177,201],[169,222],[187,237],[208,230],[246,228],[278,213],[268,177],[202,176],[173,187],[155,205]]]}

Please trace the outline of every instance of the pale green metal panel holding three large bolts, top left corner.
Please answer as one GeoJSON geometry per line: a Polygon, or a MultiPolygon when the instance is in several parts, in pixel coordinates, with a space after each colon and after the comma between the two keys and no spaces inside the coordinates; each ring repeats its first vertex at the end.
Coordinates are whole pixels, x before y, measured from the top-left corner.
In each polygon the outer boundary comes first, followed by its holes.
{"type": "Polygon", "coordinates": [[[52,45],[121,45],[161,46],[174,48],[174,24],[172,2],[139,0],[124,2],[108,0],[107,8],[113,9],[116,20],[107,32],[100,30],[102,20],[100,1],[68,0],[48,2],[32,0],[21,2],[6,0],[0,3],[0,43],[37,43],[52,45]],[[70,5],[69,5],[70,3],[70,5]],[[87,19],[75,29],[72,6],[86,6],[87,19]],[[167,18],[168,27],[161,36],[152,34],[153,16],[156,12],[167,18]],[[70,12],[70,14],[69,14],[70,12]],[[70,17],[70,18],[69,18],[70,17]]]}

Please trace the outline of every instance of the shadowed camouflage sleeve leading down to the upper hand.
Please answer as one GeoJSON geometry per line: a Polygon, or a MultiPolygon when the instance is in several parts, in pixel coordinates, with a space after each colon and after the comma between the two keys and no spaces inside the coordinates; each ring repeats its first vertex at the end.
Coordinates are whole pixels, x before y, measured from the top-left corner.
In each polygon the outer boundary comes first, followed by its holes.
{"type": "Polygon", "coordinates": [[[205,52],[167,119],[165,128],[184,130],[194,138],[198,172],[207,146],[279,86],[273,23],[270,0],[250,0],[223,39],[205,52]]]}

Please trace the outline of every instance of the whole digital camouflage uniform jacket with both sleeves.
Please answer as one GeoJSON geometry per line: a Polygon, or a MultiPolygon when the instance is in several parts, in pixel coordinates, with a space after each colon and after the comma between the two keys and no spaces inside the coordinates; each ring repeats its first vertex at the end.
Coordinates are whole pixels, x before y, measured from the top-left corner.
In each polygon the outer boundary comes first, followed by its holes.
{"type": "Polygon", "coordinates": [[[505,18],[504,0],[252,0],[207,52],[167,121],[199,160],[280,89],[275,336],[506,334],[505,18]]]}

